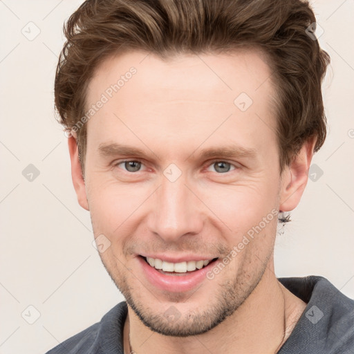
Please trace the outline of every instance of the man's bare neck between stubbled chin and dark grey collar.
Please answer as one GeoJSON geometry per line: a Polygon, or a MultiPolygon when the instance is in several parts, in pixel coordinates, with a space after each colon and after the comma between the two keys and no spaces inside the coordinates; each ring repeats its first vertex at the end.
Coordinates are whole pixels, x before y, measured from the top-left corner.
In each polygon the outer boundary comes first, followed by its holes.
{"type": "Polygon", "coordinates": [[[128,306],[124,354],[277,353],[295,327],[306,304],[292,295],[267,268],[245,302],[221,324],[191,337],[167,337],[147,328],[128,306]],[[129,345],[130,338],[130,345],[129,345]]]}

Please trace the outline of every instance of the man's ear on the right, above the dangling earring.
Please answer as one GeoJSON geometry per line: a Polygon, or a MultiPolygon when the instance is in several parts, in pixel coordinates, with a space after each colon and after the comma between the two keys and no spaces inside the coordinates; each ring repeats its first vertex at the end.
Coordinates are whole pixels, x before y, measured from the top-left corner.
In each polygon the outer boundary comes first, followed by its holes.
{"type": "Polygon", "coordinates": [[[316,140],[316,136],[309,138],[301,147],[299,153],[293,157],[290,166],[283,170],[279,211],[290,212],[299,204],[308,181],[308,169],[313,158],[313,148],[316,140]]]}

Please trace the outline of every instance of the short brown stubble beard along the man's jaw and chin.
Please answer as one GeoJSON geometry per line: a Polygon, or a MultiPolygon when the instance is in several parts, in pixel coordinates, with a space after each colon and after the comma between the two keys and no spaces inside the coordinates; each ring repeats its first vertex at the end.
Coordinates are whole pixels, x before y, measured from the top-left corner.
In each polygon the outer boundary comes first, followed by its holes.
{"type": "MultiPolygon", "coordinates": [[[[195,306],[192,306],[193,310],[189,313],[180,314],[178,303],[186,300],[178,301],[178,294],[171,295],[170,299],[173,299],[173,301],[171,301],[170,308],[174,308],[172,312],[175,312],[175,315],[172,316],[171,319],[171,316],[166,315],[166,310],[160,310],[161,312],[156,311],[156,308],[162,308],[161,304],[155,304],[155,306],[151,308],[147,302],[142,302],[138,298],[138,293],[140,294],[141,292],[134,292],[133,288],[129,286],[129,282],[127,281],[129,274],[122,274],[116,264],[115,268],[111,268],[113,271],[109,270],[102,254],[100,254],[100,256],[104,268],[106,268],[106,271],[109,273],[115,286],[117,286],[118,290],[122,292],[122,295],[127,300],[127,304],[131,307],[134,313],[136,313],[140,321],[153,330],[153,332],[172,337],[201,335],[212,328],[215,328],[227,317],[234,314],[234,312],[246,299],[248,299],[252,291],[258,286],[270,259],[270,254],[268,254],[267,259],[264,262],[261,261],[255,271],[251,270],[250,272],[247,272],[243,265],[250,264],[250,260],[246,257],[246,259],[243,260],[242,266],[237,270],[234,278],[228,279],[223,283],[218,283],[218,276],[212,280],[205,280],[215,281],[215,286],[218,286],[217,294],[213,296],[214,299],[209,299],[209,301],[207,301],[208,304],[205,308],[196,308],[195,306]]],[[[225,271],[225,269],[223,271],[225,271]]],[[[221,272],[221,274],[222,273],[223,272],[221,272]]],[[[134,277],[134,275],[131,274],[130,278],[138,277],[134,277]]],[[[138,283],[140,284],[140,281],[138,281],[138,283]]],[[[203,291],[203,286],[196,290],[196,294],[187,298],[187,301],[188,299],[198,296],[198,292],[200,293],[201,291],[203,291]]],[[[149,290],[146,290],[146,292],[149,292],[149,290]]],[[[183,297],[184,296],[181,298],[183,297]]],[[[154,299],[156,298],[154,297],[154,299]]],[[[156,302],[158,302],[158,299],[156,299],[156,302]]]]}

